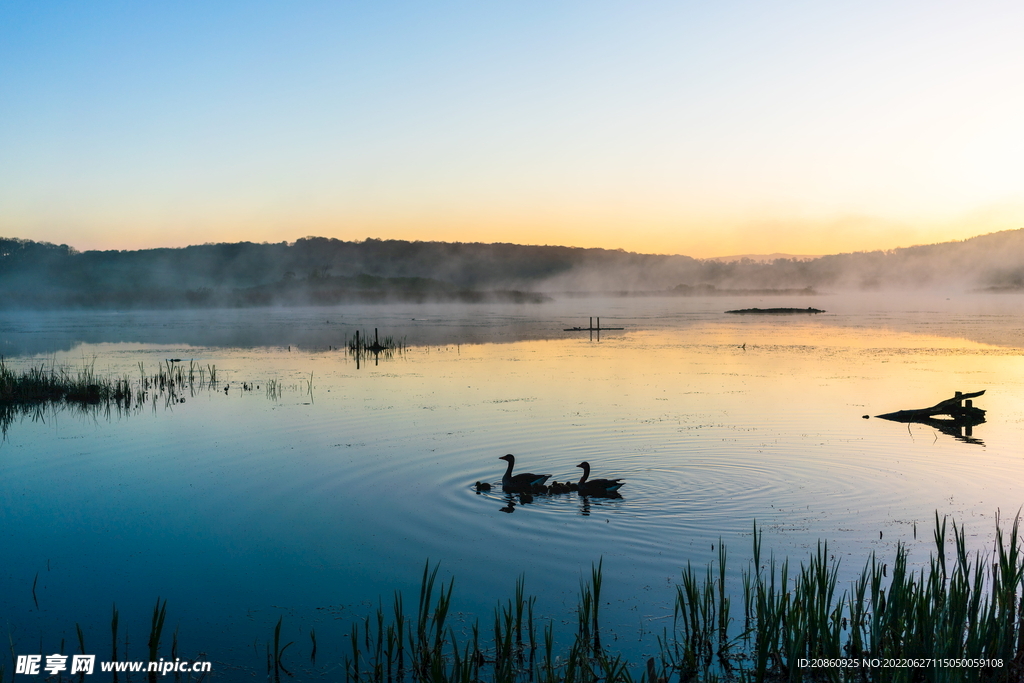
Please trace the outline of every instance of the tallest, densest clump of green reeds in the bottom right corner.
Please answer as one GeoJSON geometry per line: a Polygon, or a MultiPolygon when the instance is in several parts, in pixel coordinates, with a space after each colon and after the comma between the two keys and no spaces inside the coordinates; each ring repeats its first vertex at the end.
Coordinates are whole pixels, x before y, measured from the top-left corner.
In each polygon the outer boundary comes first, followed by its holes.
{"type": "MultiPolygon", "coordinates": [[[[718,570],[683,571],[672,632],[659,639],[668,670],[681,680],[754,681],[1018,681],[1024,672],[1024,555],[1019,520],[1006,538],[996,521],[990,556],[967,552],[966,532],[935,519],[927,565],[910,568],[900,544],[892,564],[872,553],[850,589],[838,587],[839,562],[827,544],[799,568],[771,556],[762,563],[761,532],[741,574],[742,628],[732,628],[718,570]],[[952,551],[952,561],[947,557],[952,551]],[[976,660],[987,667],[896,670],[808,669],[807,661],[976,660]]],[[[719,546],[721,549],[721,545],[719,546]]]]}

